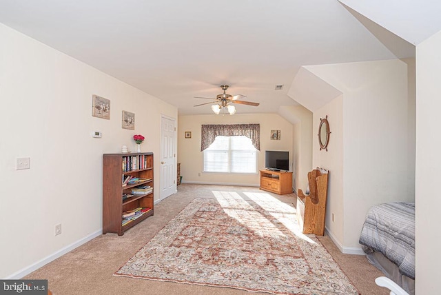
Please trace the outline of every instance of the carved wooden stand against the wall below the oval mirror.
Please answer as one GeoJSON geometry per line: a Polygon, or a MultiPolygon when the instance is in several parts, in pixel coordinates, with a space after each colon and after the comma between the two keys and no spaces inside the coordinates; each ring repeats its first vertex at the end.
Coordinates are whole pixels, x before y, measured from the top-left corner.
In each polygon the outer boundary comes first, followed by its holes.
{"type": "Polygon", "coordinates": [[[326,199],[329,171],[315,169],[308,172],[309,194],[298,190],[297,221],[303,234],[325,233],[326,199]]]}

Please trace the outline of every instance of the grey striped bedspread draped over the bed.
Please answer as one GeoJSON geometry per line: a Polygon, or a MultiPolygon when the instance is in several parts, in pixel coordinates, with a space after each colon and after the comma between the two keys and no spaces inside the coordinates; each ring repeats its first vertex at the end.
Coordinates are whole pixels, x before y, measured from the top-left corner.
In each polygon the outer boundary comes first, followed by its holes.
{"type": "Polygon", "coordinates": [[[400,274],[415,279],[415,203],[383,203],[367,212],[360,241],[366,253],[381,252],[400,274]]]}

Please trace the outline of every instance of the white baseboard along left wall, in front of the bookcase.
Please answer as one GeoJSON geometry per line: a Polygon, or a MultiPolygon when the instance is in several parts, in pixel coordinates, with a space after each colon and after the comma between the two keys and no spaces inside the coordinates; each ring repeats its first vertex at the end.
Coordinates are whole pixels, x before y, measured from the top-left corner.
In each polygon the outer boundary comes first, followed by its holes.
{"type": "Polygon", "coordinates": [[[50,254],[49,256],[46,256],[45,258],[41,259],[41,261],[37,261],[36,263],[29,265],[28,267],[20,269],[18,272],[15,272],[14,274],[11,274],[10,276],[6,276],[5,279],[19,280],[20,278],[23,278],[23,276],[26,276],[26,275],[30,274],[31,272],[34,272],[35,270],[39,269],[40,267],[43,267],[43,265],[46,265],[46,264],[50,263],[51,261],[54,261],[55,259],[74,250],[76,247],[79,247],[79,246],[83,245],[84,243],[87,243],[88,241],[96,238],[97,236],[100,236],[101,234],[103,234],[103,229],[97,230],[96,232],[93,232],[92,234],[89,234],[88,236],[85,236],[84,238],[81,238],[80,240],[78,240],[70,245],[67,245],[66,247],[63,247],[62,249],[58,250],[57,252],[50,254]]]}

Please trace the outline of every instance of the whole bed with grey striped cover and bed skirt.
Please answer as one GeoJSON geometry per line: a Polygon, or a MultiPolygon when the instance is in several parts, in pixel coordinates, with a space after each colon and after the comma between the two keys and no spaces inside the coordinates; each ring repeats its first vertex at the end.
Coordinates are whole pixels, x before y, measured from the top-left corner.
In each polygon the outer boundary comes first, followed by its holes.
{"type": "Polygon", "coordinates": [[[371,264],[415,294],[415,203],[372,206],[359,243],[371,264]]]}

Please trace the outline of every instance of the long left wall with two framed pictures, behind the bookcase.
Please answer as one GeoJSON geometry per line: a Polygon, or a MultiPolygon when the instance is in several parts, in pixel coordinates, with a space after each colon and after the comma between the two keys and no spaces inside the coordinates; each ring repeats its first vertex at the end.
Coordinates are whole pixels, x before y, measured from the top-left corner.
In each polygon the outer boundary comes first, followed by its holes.
{"type": "Polygon", "coordinates": [[[161,114],[177,110],[1,24],[0,40],[0,277],[17,278],[101,234],[103,153],[143,134],[159,167],[161,114]],[[110,120],[92,116],[92,94],[110,99],[110,120]],[[135,130],[121,128],[122,110],[135,130]],[[19,157],[30,170],[15,170],[19,157]]]}

